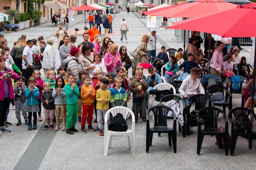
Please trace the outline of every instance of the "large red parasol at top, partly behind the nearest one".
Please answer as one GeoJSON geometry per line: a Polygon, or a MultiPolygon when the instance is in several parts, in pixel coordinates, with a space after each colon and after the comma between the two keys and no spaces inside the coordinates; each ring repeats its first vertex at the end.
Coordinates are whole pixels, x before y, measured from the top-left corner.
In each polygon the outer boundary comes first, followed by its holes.
{"type": "Polygon", "coordinates": [[[199,0],[187,4],[182,3],[182,5],[176,5],[175,8],[173,8],[173,5],[171,5],[169,7],[151,10],[148,12],[148,14],[154,16],[164,16],[167,18],[197,17],[221,10],[229,10],[236,8],[236,6],[236,4],[231,4],[220,0],[199,0]]]}

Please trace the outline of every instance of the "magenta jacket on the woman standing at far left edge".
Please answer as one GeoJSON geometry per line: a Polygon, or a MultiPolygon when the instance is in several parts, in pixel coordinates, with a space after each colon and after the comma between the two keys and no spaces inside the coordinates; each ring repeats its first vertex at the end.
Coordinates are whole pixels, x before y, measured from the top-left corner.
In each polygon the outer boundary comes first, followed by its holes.
{"type": "MultiPolygon", "coordinates": [[[[12,70],[10,70],[9,68],[6,68],[6,67],[5,67],[5,71],[12,72],[12,74],[13,74],[13,76],[7,78],[8,87],[9,87],[9,96],[12,99],[12,98],[14,98],[14,93],[13,93],[11,78],[14,80],[18,80],[19,75],[17,73],[14,73],[12,70]]],[[[0,77],[2,77],[3,75],[4,74],[0,72],[0,77]]],[[[2,101],[4,100],[4,79],[0,80],[0,100],[2,100],[2,101]]]]}

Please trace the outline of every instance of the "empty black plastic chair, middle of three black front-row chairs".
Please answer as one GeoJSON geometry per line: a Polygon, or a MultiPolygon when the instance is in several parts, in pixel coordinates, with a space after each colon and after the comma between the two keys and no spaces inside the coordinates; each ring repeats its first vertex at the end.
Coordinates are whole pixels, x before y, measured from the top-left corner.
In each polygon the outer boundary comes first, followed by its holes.
{"type": "Polygon", "coordinates": [[[225,113],[217,107],[205,107],[197,113],[198,131],[197,131],[197,155],[200,155],[204,135],[222,136],[225,144],[225,153],[228,156],[228,119],[225,113]],[[218,116],[222,114],[225,121],[225,130],[218,128],[218,116]],[[201,129],[200,117],[204,117],[204,129],[201,129]]]}

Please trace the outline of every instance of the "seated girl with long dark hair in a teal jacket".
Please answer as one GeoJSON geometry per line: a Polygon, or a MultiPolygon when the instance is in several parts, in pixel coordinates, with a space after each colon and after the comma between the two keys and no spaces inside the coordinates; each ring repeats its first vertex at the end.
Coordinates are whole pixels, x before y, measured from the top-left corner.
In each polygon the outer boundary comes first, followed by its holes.
{"type": "Polygon", "coordinates": [[[174,56],[171,56],[169,62],[166,63],[166,72],[164,73],[164,77],[167,82],[169,82],[170,78],[174,75],[177,75],[176,72],[180,70],[179,65],[174,56]]]}

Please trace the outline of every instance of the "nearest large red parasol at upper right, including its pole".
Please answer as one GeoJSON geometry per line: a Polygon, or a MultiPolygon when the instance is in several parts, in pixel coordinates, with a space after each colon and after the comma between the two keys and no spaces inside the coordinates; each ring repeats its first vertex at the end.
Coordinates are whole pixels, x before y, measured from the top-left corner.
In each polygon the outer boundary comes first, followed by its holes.
{"type": "MultiPolygon", "coordinates": [[[[256,3],[250,3],[243,6],[237,5],[235,9],[214,12],[201,17],[179,21],[166,29],[188,29],[216,34],[222,37],[256,37],[256,22],[254,16],[256,16],[256,3]],[[202,23],[207,24],[204,24],[202,27],[202,23]]],[[[253,77],[255,77],[255,68],[256,43],[254,51],[253,77]]],[[[252,82],[252,87],[255,87],[255,81],[252,82]]],[[[253,100],[254,97],[252,97],[252,103],[253,100]]]]}

